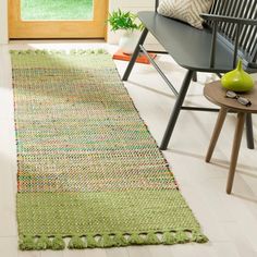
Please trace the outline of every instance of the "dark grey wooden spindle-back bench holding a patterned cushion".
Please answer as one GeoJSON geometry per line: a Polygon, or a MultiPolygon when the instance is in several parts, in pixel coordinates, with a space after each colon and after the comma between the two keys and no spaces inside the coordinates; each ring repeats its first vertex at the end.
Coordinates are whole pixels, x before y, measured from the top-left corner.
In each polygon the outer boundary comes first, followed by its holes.
{"type": "MultiPolygon", "coordinates": [[[[204,29],[194,28],[183,22],[164,17],[155,11],[139,12],[138,16],[145,28],[132,56],[123,81],[127,81],[135,60],[143,51],[157,69],[172,91],[178,96],[168,123],[160,149],[167,149],[180,111],[218,111],[211,108],[184,107],[191,81],[197,79],[196,72],[225,73],[233,70],[237,59],[243,60],[244,70],[257,72],[257,0],[215,0],[205,20],[204,29]],[[144,48],[148,33],[151,33],[181,66],[187,70],[184,82],[178,93],[158,64],[144,48]]],[[[246,118],[246,135],[248,148],[254,148],[253,124],[250,114],[246,118]]]]}

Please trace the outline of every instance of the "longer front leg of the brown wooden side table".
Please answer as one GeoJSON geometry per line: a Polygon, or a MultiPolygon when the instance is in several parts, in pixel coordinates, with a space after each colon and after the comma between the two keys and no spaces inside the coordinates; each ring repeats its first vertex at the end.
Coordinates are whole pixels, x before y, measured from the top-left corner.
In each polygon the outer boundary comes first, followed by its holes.
{"type": "Polygon", "coordinates": [[[235,167],[237,163],[240,145],[241,145],[242,134],[244,130],[245,115],[246,114],[244,112],[240,112],[237,114],[237,122],[236,122],[236,127],[235,127],[234,142],[233,142],[233,148],[232,148],[231,161],[230,161],[230,172],[229,172],[229,178],[227,182],[228,194],[231,193],[233,181],[234,181],[235,167]]]}

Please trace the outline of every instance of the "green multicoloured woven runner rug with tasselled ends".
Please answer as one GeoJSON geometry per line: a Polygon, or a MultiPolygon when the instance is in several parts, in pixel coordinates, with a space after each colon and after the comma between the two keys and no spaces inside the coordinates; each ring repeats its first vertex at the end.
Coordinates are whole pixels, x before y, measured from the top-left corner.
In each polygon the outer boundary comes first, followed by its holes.
{"type": "Polygon", "coordinates": [[[108,53],[11,58],[20,249],[207,242],[108,53]]]}

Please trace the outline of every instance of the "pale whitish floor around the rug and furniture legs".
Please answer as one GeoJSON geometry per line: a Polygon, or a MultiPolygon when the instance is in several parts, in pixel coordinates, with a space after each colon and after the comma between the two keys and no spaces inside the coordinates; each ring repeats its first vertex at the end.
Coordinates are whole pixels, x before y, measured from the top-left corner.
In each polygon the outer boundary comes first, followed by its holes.
{"type": "MultiPolygon", "coordinates": [[[[13,99],[9,49],[81,49],[114,47],[83,41],[12,42],[0,46],[0,256],[2,257],[254,257],[257,256],[257,149],[248,150],[245,140],[238,159],[233,194],[225,194],[228,166],[235,117],[230,114],[218,142],[212,163],[204,161],[217,113],[183,111],[169,149],[164,155],[180,188],[210,238],[208,244],[140,246],[112,249],[20,252],[15,220],[16,154],[13,130],[13,99]]],[[[176,88],[184,70],[169,57],[158,57],[176,88]]],[[[126,62],[117,61],[123,74],[126,62]]],[[[199,74],[192,83],[188,103],[210,105],[203,97],[203,84],[210,75],[199,74]]],[[[256,76],[257,78],[257,76],[256,76]]],[[[150,65],[137,64],[125,83],[131,97],[159,144],[174,97],[150,65]]],[[[255,138],[257,119],[254,118],[255,138]]],[[[257,145],[257,142],[255,142],[257,145]]]]}

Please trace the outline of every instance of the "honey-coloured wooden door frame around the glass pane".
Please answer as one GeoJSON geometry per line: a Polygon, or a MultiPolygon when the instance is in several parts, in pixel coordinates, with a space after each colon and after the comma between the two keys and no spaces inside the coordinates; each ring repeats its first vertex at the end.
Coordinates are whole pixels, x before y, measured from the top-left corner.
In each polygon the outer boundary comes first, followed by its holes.
{"type": "MultiPolygon", "coordinates": [[[[91,17],[87,20],[47,20],[24,19],[22,15],[22,1],[59,1],[63,0],[9,0],[9,38],[105,38],[106,20],[108,14],[108,0],[70,0],[73,4],[81,4],[83,1],[91,1],[91,17]]],[[[64,0],[69,1],[69,0],[64,0]]],[[[57,3],[56,2],[56,3],[57,3]]],[[[35,2],[34,2],[35,3],[35,2]]],[[[32,2],[32,4],[34,4],[32,2]]],[[[71,3],[70,3],[71,4],[71,3]]],[[[50,7],[51,8],[51,7],[50,7]]],[[[79,7],[76,7],[78,11],[79,7]]],[[[81,7],[83,8],[83,5],[81,7]]],[[[85,8],[85,5],[84,5],[85,8]]],[[[53,8],[54,9],[54,8],[53,8]]],[[[49,12],[54,10],[49,10],[49,12]]],[[[32,10],[33,12],[33,10],[32,10]]],[[[64,15],[64,11],[62,11],[64,15]]],[[[40,15],[42,11],[38,12],[40,15]]],[[[78,13],[78,12],[77,12],[78,13]]],[[[32,14],[32,13],[30,13],[32,14]]],[[[39,15],[39,16],[40,16],[39,15]]],[[[75,14],[76,15],[76,11],[75,14]]],[[[82,12],[83,15],[83,12],[82,12]]]]}

